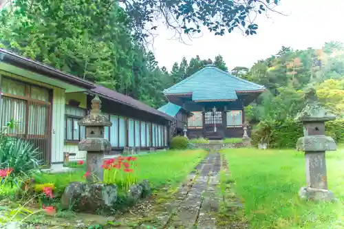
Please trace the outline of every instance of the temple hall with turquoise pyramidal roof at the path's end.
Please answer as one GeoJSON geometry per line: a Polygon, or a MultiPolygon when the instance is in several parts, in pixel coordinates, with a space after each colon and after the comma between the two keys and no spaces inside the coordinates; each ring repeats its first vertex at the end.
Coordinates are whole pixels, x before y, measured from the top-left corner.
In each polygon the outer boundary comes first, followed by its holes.
{"type": "Polygon", "coordinates": [[[262,85],[233,76],[215,65],[206,65],[165,89],[164,95],[170,106],[177,105],[193,114],[188,118],[188,138],[241,138],[244,107],[264,89],[262,85]]]}

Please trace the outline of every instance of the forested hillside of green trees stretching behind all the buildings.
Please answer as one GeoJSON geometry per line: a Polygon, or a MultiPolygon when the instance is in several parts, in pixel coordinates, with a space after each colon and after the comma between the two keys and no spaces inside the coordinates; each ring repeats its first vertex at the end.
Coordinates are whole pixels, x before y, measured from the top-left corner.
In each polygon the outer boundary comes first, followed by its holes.
{"type": "MultiPolygon", "coordinates": [[[[147,51],[143,40],[138,39],[139,30],[135,30],[138,27],[133,23],[154,20],[134,20],[133,13],[140,10],[138,8],[122,8],[110,0],[32,1],[31,4],[19,0],[14,2],[14,5],[0,12],[1,47],[105,85],[153,107],[160,107],[166,102],[163,89],[202,69],[211,58],[220,69],[268,88],[255,104],[246,108],[246,121],[294,117],[304,105],[302,91],[310,85],[318,89],[323,105],[337,116],[343,116],[342,43],[325,43],[321,50],[281,47],[277,54],[257,61],[252,67],[238,66],[234,69],[228,69],[221,55],[208,56],[206,59],[195,56],[190,61],[182,58],[175,60],[171,72],[167,72],[166,67],[158,67],[159,60],[147,51]]],[[[255,1],[250,1],[250,4],[250,7],[244,8],[244,12],[256,6],[255,1]]],[[[148,9],[145,10],[149,13],[148,9]]],[[[211,8],[208,10],[211,12],[211,8]]],[[[222,8],[217,10],[226,12],[222,8]]],[[[182,17],[187,12],[176,14],[182,17]]],[[[238,17],[240,19],[233,19],[233,25],[218,25],[212,31],[219,32],[222,26],[229,27],[228,31],[239,25],[247,27],[246,23],[242,23],[244,16],[238,17]]],[[[213,26],[206,18],[197,20],[209,23],[208,27],[213,26]]],[[[255,27],[252,30],[256,30],[255,27]]],[[[140,37],[147,36],[141,31],[140,37]]]]}

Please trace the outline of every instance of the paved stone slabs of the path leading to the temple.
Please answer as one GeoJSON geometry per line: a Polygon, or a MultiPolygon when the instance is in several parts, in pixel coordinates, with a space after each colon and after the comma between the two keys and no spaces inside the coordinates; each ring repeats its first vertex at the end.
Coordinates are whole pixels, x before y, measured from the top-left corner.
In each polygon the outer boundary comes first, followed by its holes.
{"type": "MultiPolygon", "coordinates": [[[[152,209],[151,214],[147,216],[149,221],[142,223],[139,228],[149,228],[149,226],[158,229],[246,228],[230,221],[224,221],[223,224],[226,225],[217,226],[219,204],[224,199],[223,193],[220,193],[218,188],[221,169],[224,169],[224,173],[228,171],[227,163],[222,160],[220,153],[216,150],[208,153],[196,166],[195,171],[186,177],[178,192],[173,195],[173,199],[152,209]]],[[[230,202],[232,206],[240,206],[233,199],[230,199],[230,202]]]]}

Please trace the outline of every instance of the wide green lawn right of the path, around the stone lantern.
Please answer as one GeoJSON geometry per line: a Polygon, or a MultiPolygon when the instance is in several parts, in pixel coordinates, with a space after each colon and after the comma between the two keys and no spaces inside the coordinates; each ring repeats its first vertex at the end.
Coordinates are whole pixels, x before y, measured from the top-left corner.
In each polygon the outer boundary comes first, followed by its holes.
{"type": "Polygon", "coordinates": [[[344,149],[327,152],[329,189],[337,203],[301,201],[305,160],[293,150],[225,150],[250,228],[344,228],[344,149]]]}

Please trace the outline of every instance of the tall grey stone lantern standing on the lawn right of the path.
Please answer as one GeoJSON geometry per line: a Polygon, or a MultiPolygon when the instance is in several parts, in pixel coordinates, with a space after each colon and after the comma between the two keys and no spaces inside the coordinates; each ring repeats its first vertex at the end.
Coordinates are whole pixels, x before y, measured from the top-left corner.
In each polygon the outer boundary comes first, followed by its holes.
{"type": "Polygon", "coordinates": [[[297,150],[305,152],[307,187],[301,188],[299,195],[303,199],[332,201],[335,198],[327,189],[325,151],[335,151],[336,143],[325,136],[325,121],[336,116],[318,105],[315,89],[309,89],[305,98],[307,105],[297,116],[303,122],[303,137],[297,141],[297,150]]]}

